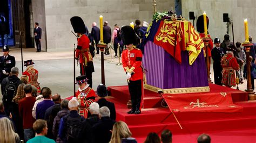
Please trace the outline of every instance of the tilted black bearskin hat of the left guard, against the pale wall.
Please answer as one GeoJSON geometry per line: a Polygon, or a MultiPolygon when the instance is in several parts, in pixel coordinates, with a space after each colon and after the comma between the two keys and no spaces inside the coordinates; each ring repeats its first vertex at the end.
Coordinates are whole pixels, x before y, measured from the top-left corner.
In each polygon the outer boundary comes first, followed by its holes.
{"type": "Polygon", "coordinates": [[[82,18],[74,16],[70,18],[70,22],[75,33],[86,33],[86,27],[82,18]]]}

